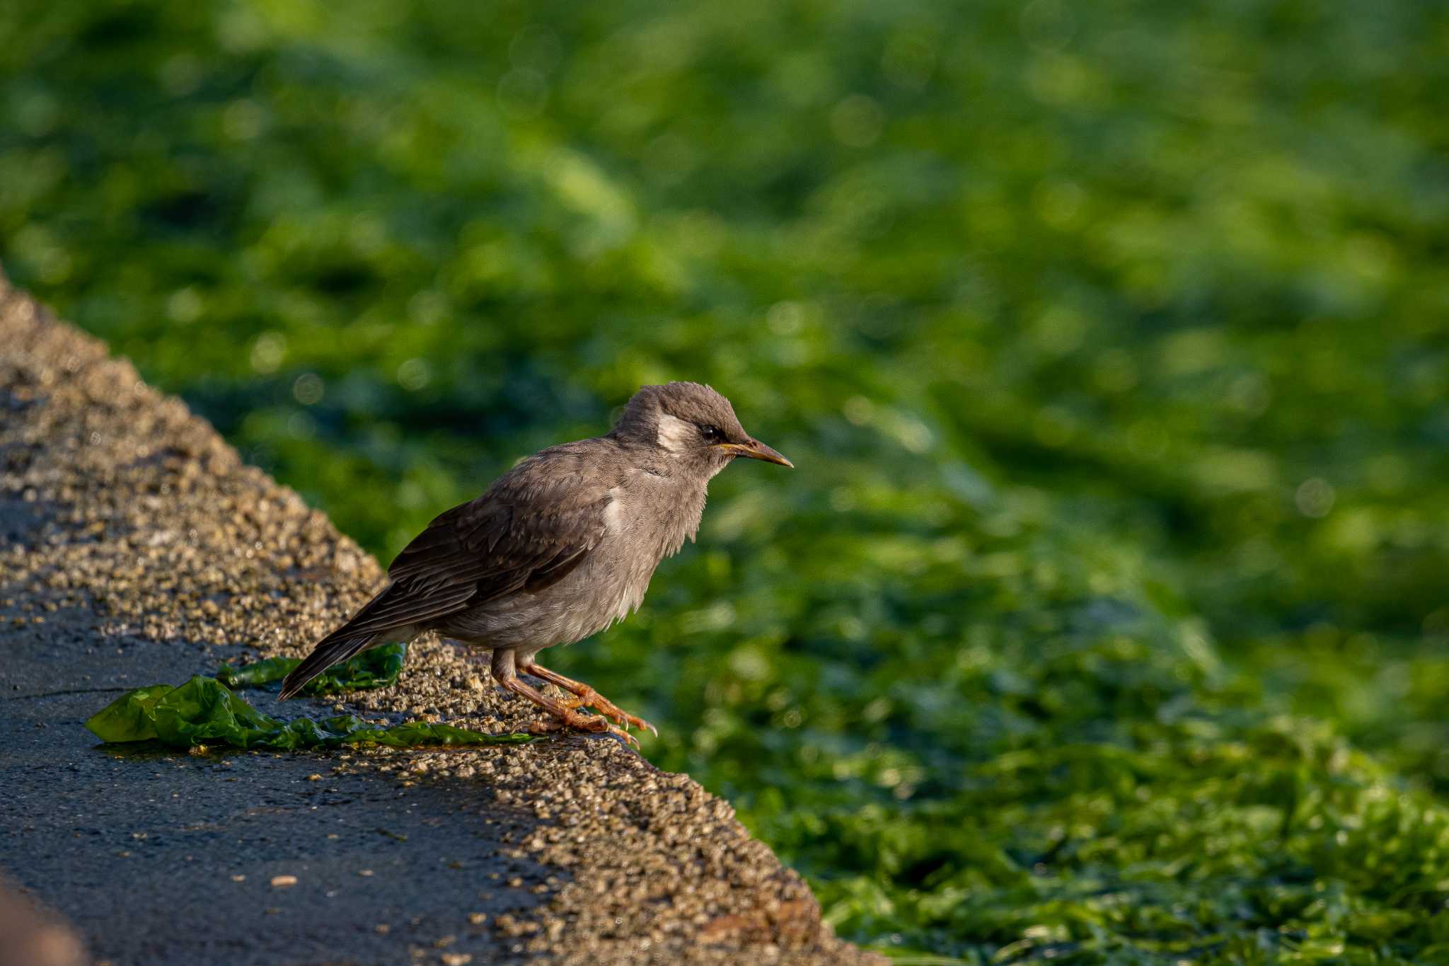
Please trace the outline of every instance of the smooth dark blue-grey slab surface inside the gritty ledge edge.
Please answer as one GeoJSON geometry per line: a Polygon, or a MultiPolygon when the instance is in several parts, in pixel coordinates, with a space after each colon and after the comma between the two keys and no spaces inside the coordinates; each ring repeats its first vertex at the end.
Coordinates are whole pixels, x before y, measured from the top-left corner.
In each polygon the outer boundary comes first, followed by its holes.
{"type": "MultiPolygon", "coordinates": [[[[542,901],[507,879],[558,872],[498,854],[506,843],[488,833],[503,827],[467,818],[497,810],[477,782],[398,788],[333,775],[336,755],[101,746],[81,724],[96,710],[132,686],[209,673],[225,655],[116,647],[88,614],[14,617],[0,610],[0,868],[65,914],[99,960],[397,963],[412,946],[423,962],[487,962],[507,954],[493,918],[542,901]]],[[[246,694],[281,711],[274,694],[246,694]]],[[[533,824],[513,818],[511,836],[533,824]]]]}

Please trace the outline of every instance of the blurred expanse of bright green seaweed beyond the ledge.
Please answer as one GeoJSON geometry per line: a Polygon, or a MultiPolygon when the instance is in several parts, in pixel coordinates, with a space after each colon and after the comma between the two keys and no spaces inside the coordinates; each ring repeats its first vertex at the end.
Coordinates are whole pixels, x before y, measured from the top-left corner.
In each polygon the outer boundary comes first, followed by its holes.
{"type": "Polygon", "coordinates": [[[13,0],[0,264],[384,562],[643,382],[556,666],[914,962],[1449,962],[1449,7],[13,0]]]}

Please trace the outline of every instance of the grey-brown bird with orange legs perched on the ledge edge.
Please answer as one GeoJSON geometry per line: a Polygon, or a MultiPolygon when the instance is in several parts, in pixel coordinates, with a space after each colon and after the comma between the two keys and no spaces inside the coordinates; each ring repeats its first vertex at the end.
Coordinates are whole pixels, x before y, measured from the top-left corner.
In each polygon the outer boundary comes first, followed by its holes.
{"type": "Polygon", "coordinates": [[[433,518],[387,585],[287,675],[281,698],[361,650],[432,630],[491,650],[493,679],[552,715],[535,731],[610,733],[638,747],[629,727],[653,726],[535,659],[639,610],[659,562],[698,533],[710,479],[740,456],[793,466],[709,385],[642,387],[607,434],[539,450],[433,518]]]}

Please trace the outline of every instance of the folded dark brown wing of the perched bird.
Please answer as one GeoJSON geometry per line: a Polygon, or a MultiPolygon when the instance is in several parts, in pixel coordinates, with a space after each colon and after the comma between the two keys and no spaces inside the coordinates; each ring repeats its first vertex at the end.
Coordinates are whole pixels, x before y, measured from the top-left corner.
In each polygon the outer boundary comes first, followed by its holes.
{"type": "Polygon", "coordinates": [[[422,624],[562,579],[604,536],[614,482],[572,446],[546,449],[454,507],[403,547],[391,584],[335,633],[422,624]]]}

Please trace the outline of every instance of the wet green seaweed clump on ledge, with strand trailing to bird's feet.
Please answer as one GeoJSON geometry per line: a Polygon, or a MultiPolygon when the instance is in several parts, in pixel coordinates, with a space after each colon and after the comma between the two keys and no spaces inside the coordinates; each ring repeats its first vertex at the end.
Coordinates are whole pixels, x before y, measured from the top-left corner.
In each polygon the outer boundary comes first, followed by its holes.
{"type": "Polygon", "coordinates": [[[106,743],[156,740],[172,747],[229,744],[288,752],[341,744],[416,747],[532,740],[529,734],[481,734],[426,721],[377,727],[355,714],[283,721],[262,714],[216,678],[200,675],[180,688],[162,684],[128,691],[91,715],[85,727],[106,743]]]}

